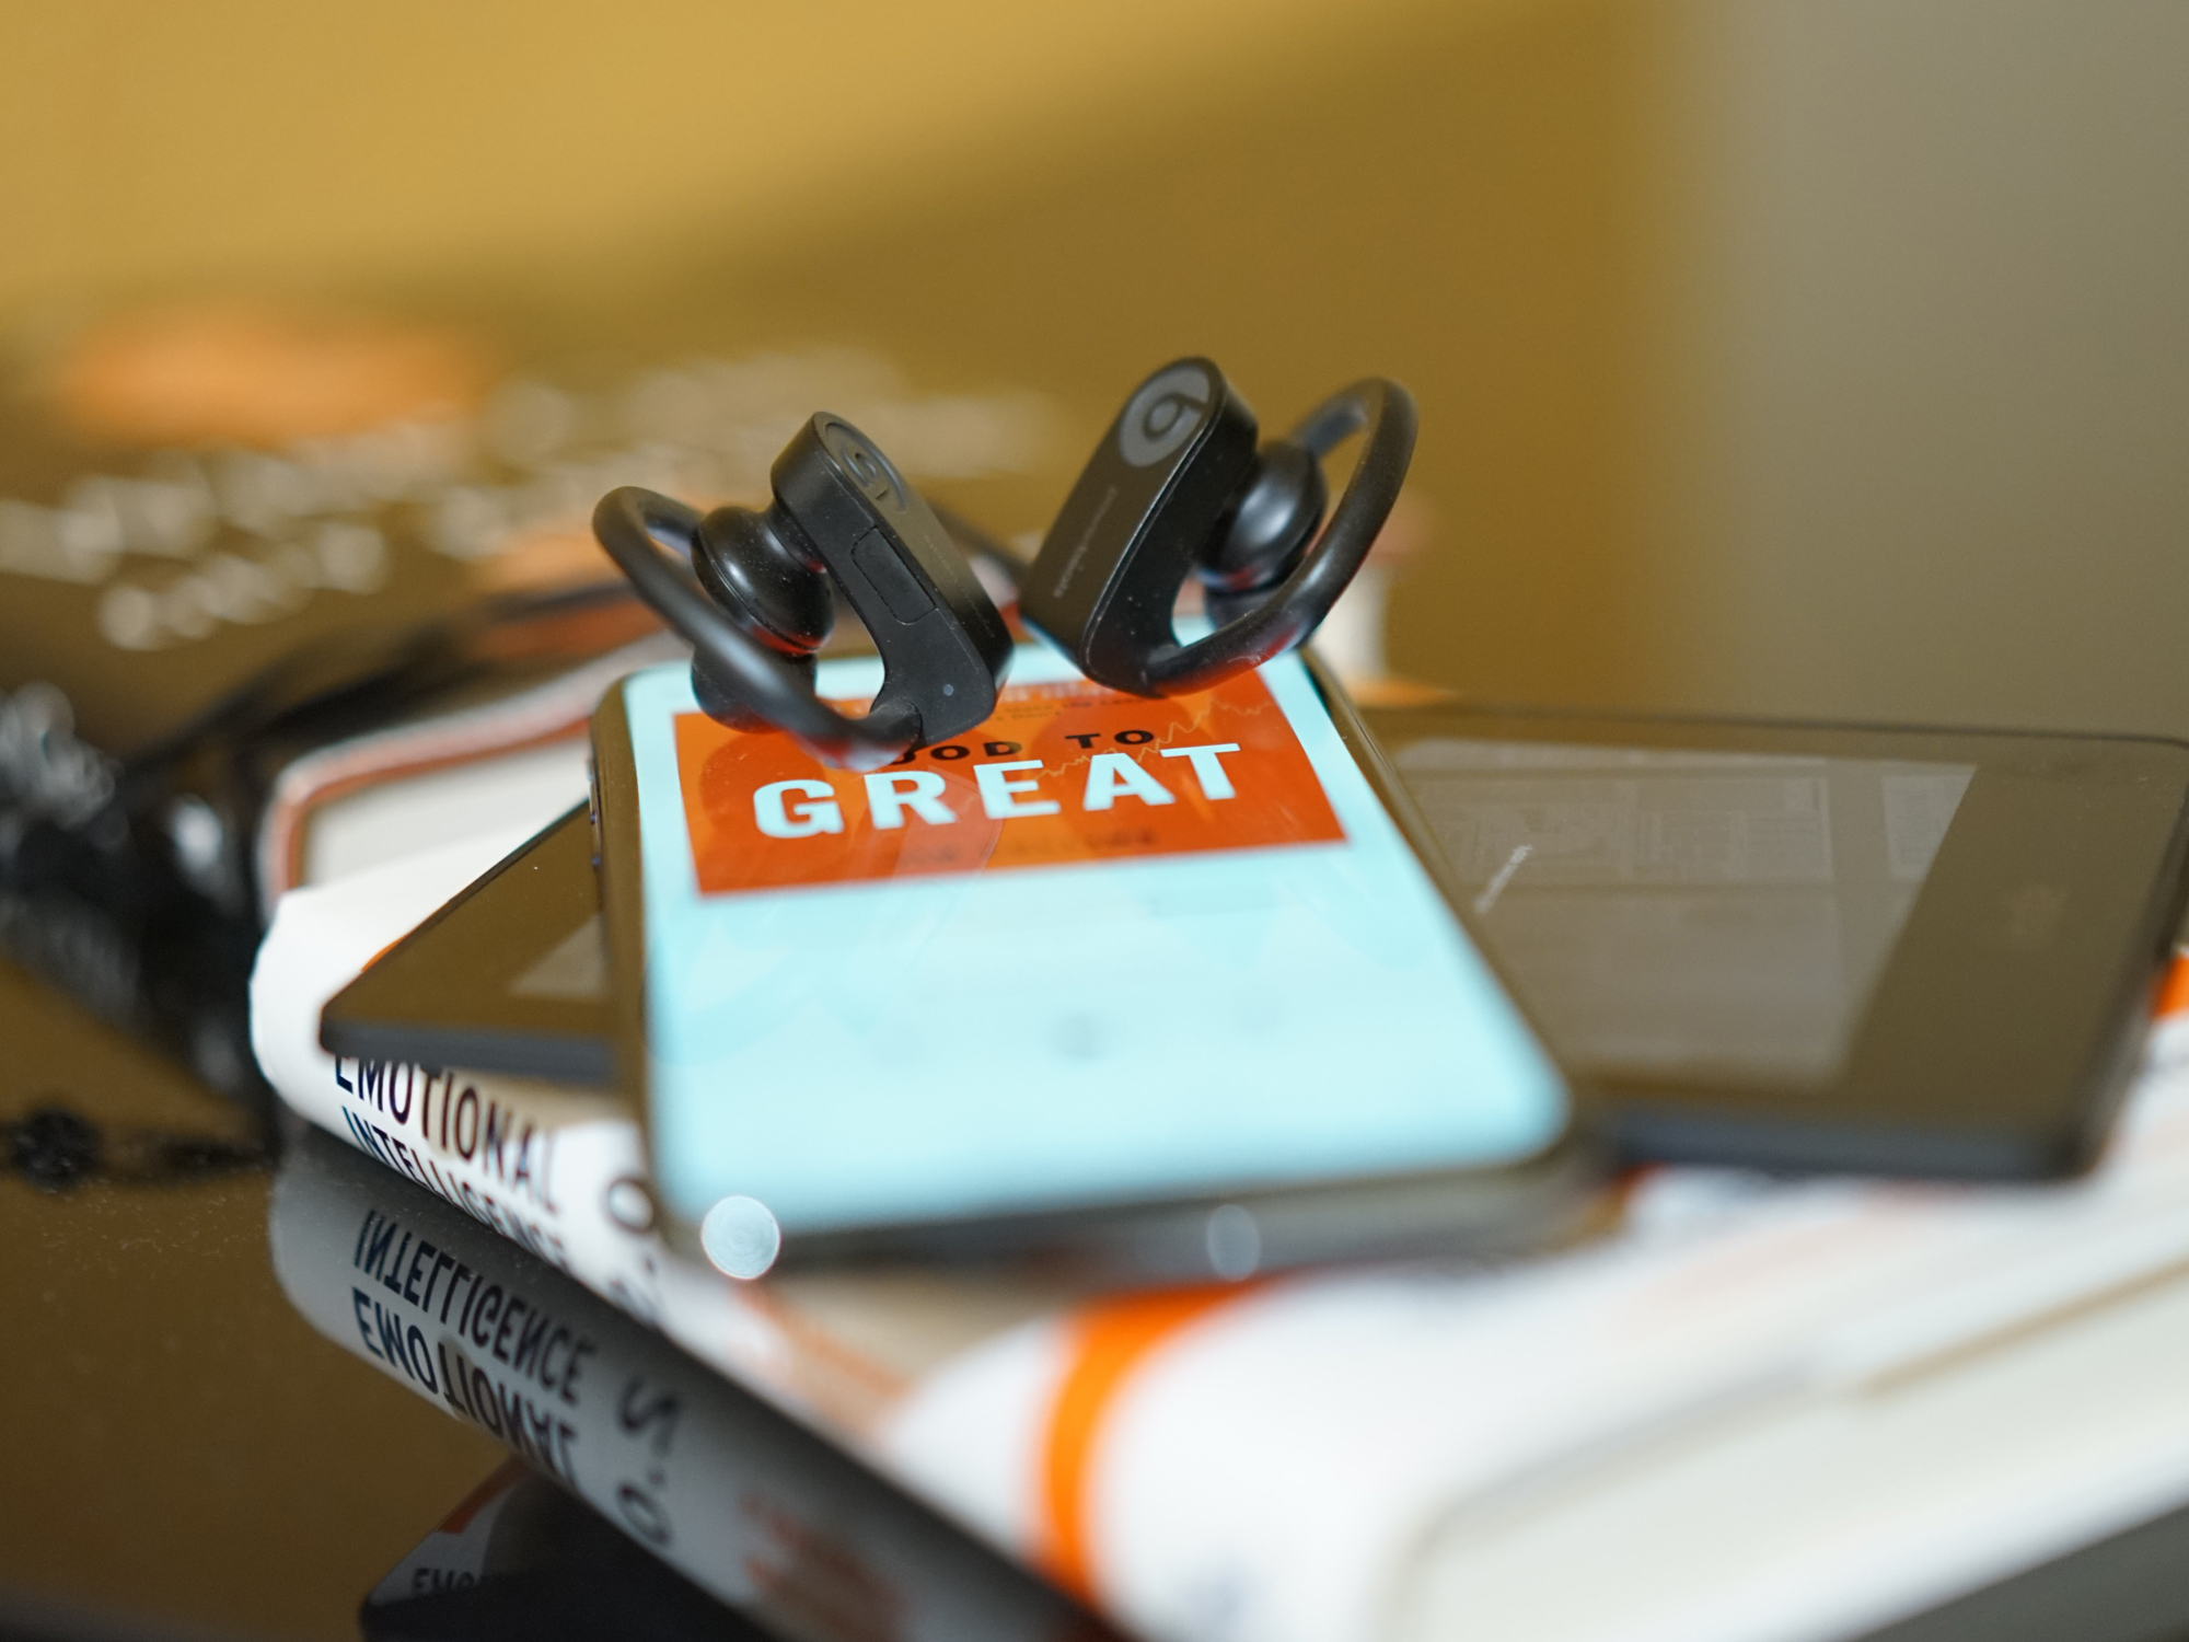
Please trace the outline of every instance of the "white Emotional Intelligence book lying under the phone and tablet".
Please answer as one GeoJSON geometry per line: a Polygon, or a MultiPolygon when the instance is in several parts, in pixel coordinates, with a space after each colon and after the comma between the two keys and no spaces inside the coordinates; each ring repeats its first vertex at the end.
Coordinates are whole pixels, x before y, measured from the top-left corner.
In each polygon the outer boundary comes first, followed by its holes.
{"type": "Polygon", "coordinates": [[[606,1097],[442,1073],[427,1099],[405,1068],[368,1090],[317,1051],[324,998],[490,865],[473,845],[285,898],[254,996],[285,1097],[488,1226],[530,1136],[547,1259],[1143,1635],[1845,1635],[2189,1500],[2167,1373],[2189,1344],[2189,987],[2069,1184],[1659,1169],[1602,1235],[1493,1265],[740,1285],[617,1217],[641,1147],[606,1097]],[[453,1123],[442,1143],[451,1086],[501,1101],[499,1160],[453,1123]],[[1731,1533],[1727,1572],[1710,1546],[1731,1533]]]}

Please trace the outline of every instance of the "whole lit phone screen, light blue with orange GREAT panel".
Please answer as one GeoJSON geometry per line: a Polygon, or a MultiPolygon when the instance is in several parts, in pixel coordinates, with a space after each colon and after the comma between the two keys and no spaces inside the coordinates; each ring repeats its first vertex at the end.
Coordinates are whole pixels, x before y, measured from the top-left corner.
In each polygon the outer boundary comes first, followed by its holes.
{"type": "MultiPolygon", "coordinates": [[[[825,661],[865,701],[878,661],[825,661]]],[[[655,1184],[786,1233],[1528,1158],[1563,1079],[1283,659],[1195,696],[1027,646],[968,736],[858,775],[624,714],[655,1184]]]]}

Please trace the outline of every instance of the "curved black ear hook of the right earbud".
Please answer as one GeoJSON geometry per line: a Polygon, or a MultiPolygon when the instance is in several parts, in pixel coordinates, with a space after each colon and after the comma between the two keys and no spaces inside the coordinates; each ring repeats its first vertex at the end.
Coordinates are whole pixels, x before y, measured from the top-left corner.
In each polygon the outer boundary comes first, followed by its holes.
{"type": "Polygon", "coordinates": [[[1414,396],[1386,377],[1342,388],[1300,418],[1287,442],[1305,449],[1318,464],[1353,433],[1366,436],[1344,495],[1331,508],[1322,534],[1276,587],[1265,593],[1215,595],[1211,613],[1221,622],[1215,633],[1147,659],[1147,683],[1156,694],[1208,690],[1283,655],[1322,626],[1399,501],[1414,460],[1416,429],[1414,396]],[[1224,604],[1248,598],[1254,602],[1243,613],[1221,620],[1224,604]]]}

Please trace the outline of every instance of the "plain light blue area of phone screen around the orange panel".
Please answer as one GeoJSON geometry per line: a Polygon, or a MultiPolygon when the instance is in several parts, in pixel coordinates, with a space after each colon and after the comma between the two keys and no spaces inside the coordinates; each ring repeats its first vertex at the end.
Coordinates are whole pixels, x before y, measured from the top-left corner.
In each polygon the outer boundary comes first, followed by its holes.
{"type": "MultiPolygon", "coordinates": [[[[1046,648],[1011,672],[1073,677],[1046,648]]],[[[1285,657],[1263,681],[1344,843],[700,898],[672,729],[696,712],[690,672],[633,677],[665,1206],[696,1222],[742,1193],[799,1233],[1491,1165],[1556,1138],[1556,1068],[1307,670],[1285,657]]],[[[878,683],[878,661],[819,677],[827,696],[878,683]]]]}

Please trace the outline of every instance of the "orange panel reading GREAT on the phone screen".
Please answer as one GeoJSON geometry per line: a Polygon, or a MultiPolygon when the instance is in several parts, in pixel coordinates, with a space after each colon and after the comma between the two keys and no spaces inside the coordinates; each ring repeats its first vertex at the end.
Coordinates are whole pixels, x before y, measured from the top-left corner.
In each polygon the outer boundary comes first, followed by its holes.
{"type": "Polygon", "coordinates": [[[978,729],[871,775],[679,714],[676,773],[703,895],[1344,839],[1252,672],[1160,701],[1007,685],[978,729]]]}

